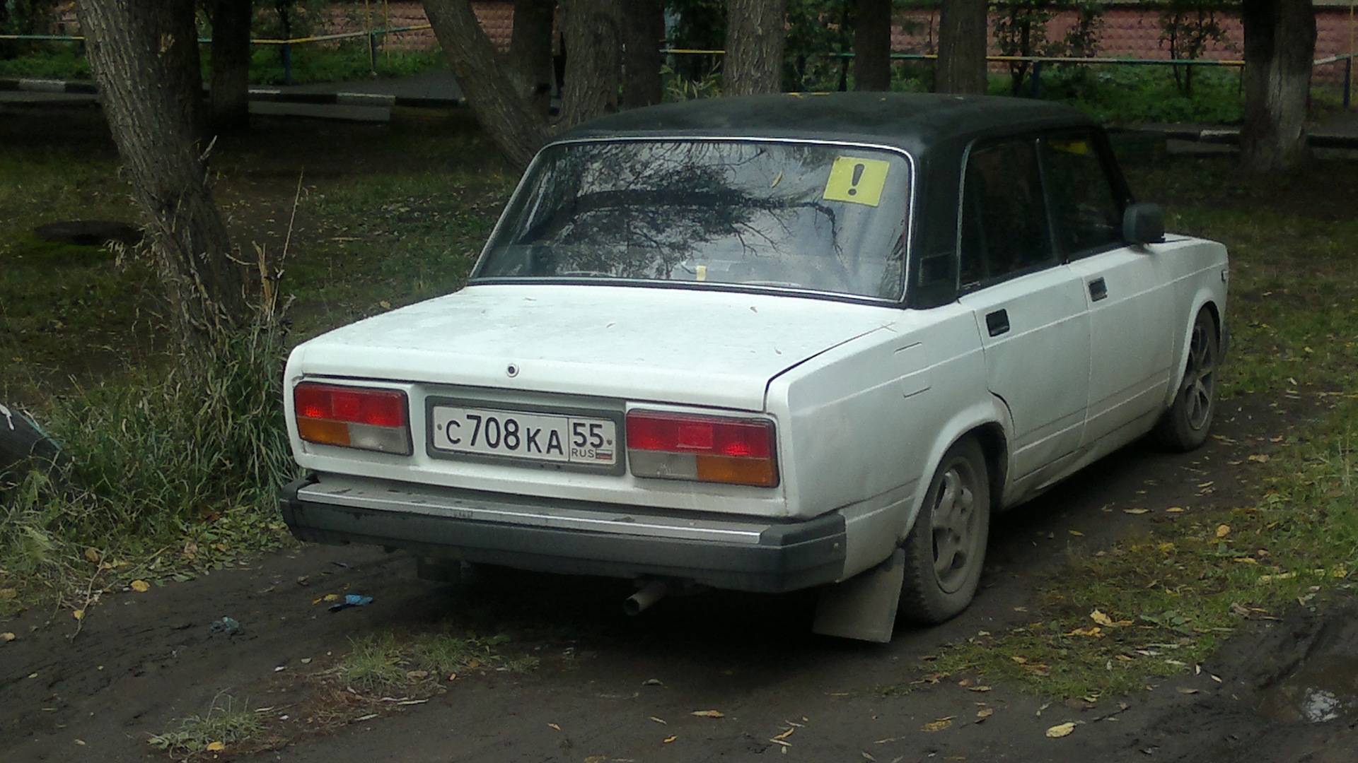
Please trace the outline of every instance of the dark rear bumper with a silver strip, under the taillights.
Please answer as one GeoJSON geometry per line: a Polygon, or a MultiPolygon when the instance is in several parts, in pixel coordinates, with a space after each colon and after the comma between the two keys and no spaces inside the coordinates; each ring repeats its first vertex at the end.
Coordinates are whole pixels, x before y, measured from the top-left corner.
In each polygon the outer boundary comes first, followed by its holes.
{"type": "Polygon", "coordinates": [[[299,540],[530,570],[774,593],[832,582],[845,565],[834,512],[773,523],[330,477],[292,482],[278,501],[299,540]]]}

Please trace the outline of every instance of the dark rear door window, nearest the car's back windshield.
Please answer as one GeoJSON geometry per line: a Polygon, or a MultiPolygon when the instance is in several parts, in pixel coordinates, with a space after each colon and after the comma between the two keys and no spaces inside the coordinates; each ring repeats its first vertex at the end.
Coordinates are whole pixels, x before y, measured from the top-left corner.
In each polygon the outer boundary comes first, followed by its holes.
{"type": "Polygon", "coordinates": [[[1055,263],[1036,141],[980,145],[967,155],[960,244],[964,289],[1055,263]]]}

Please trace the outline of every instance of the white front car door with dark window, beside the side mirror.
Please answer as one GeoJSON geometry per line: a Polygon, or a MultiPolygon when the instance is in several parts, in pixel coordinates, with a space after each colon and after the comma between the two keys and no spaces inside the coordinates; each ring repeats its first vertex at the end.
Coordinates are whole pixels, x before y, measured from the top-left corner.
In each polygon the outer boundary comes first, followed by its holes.
{"type": "Polygon", "coordinates": [[[1130,198],[1103,141],[1073,132],[1046,136],[1039,149],[1057,248],[1089,305],[1089,445],[1164,401],[1175,343],[1169,282],[1156,254],[1123,244],[1130,198]]]}

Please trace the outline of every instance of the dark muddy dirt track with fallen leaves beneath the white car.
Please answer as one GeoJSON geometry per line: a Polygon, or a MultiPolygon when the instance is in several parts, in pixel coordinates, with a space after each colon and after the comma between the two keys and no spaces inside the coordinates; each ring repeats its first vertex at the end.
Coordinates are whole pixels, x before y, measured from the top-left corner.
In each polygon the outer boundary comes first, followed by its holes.
{"type": "Polygon", "coordinates": [[[416,580],[403,554],[320,546],[107,596],[75,638],[69,612],[30,610],[0,620],[0,631],[18,637],[0,645],[0,760],[163,760],[147,739],[224,695],[268,707],[273,724],[288,715],[315,728],[303,717],[316,707],[306,705],[299,676],[325,671],[352,638],[440,626],[512,634],[508,649],[540,665],[469,671],[428,702],[388,703],[371,718],[360,710],[344,717],[341,707],[325,732],[215,759],[1351,762],[1358,737],[1346,702],[1358,686],[1323,702],[1336,715],[1328,722],[1301,720],[1308,675],[1358,676],[1358,607],[1342,601],[1251,623],[1203,675],[1093,707],[1001,684],[978,694],[955,680],[883,691],[918,679],[919,657],[947,642],[1019,625],[1028,615],[1016,607],[1070,548],[1099,548],[1157,521],[1154,510],[1120,509],[1234,505],[1255,478],[1245,455],[1275,447],[1270,439],[1315,413],[1294,399],[1230,401],[1217,437],[1199,452],[1133,445],[1115,453],[998,520],[970,610],[934,629],[899,631],[888,645],[811,635],[813,597],[805,593],[709,592],[629,619],[622,581],[486,570],[437,585],[416,580]],[[316,603],[331,592],[375,600],[331,614],[316,603]],[[239,620],[242,633],[212,633],[221,616],[239,620]],[[994,713],[976,722],[986,707],[994,713]],[[951,728],[922,730],[949,715],[951,728]],[[1070,736],[1044,736],[1066,721],[1077,724],[1070,736]]]}

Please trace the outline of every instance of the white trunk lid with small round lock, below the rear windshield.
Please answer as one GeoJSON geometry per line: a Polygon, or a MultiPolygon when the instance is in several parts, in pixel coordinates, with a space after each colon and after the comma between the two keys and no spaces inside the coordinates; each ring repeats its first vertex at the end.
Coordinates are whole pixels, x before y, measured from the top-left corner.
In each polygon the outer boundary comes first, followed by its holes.
{"type": "Polygon", "coordinates": [[[898,318],[729,291],[479,285],[311,339],[291,368],[759,410],[770,379],[898,318]]]}

